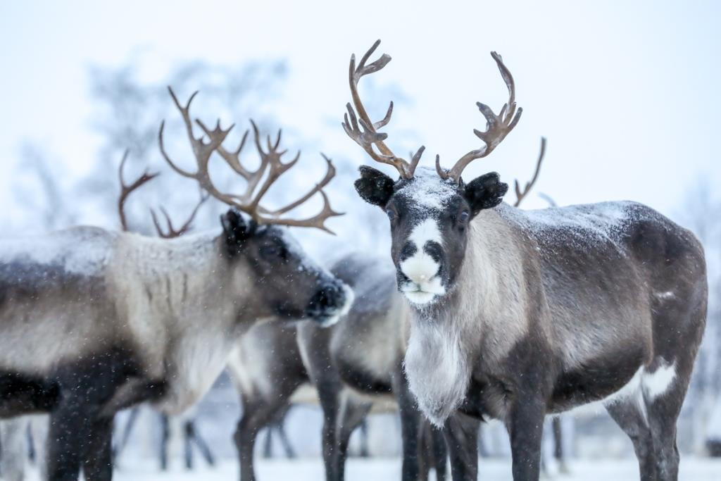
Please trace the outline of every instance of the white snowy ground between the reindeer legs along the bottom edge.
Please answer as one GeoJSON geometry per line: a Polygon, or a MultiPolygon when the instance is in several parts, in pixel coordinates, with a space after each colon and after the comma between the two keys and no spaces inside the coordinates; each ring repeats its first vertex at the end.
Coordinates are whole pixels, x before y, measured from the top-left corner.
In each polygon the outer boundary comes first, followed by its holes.
{"type": "MultiPolygon", "coordinates": [[[[317,459],[300,461],[259,460],[257,475],[260,481],[293,480],[317,481],[324,478],[322,462],[317,459]]],[[[557,475],[558,481],[626,481],[638,480],[638,468],[632,459],[607,459],[577,461],[570,464],[572,474],[557,475]]],[[[115,472],[115,481],[219,481],[236,480],[237,464],[224,462],[216,469],[198,469],[194,472],[174,470],[159,474],[154,465],[134,464],[115,472]]],[[[29,481],[36,481],[37,475],[29,481]]],[[[348,481],[391,481],[400,479],[399,459],[351,459],[346,469],[348,481]]],[[[483,481],[510,480],[510,464],[507,459],[482,459],[479,464],[479,479],[483,481]]],[[[547,478],[549,479],[549,478],[547,478]]],[[[681,461],[681,481],[721,480],[721,460],[686,458],[681,461]]]]}

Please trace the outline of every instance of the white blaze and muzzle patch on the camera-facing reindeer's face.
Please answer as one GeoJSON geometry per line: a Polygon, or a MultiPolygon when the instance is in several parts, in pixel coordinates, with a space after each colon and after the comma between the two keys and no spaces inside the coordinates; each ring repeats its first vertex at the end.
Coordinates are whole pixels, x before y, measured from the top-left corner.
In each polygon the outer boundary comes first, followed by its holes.
{"type": "Polygon", "coordinates": [[[435,296],[446,294],[441,278],[436,273],[441,268],[424,250],[427,242],[441,242],[441,231],[435,219],[425,219],[413,228],[408,237],[415,248],[415,253],[400,263],[401,272],[410,282],[401,286],[401,291],[413,304],[428,304],[435,296]]]}

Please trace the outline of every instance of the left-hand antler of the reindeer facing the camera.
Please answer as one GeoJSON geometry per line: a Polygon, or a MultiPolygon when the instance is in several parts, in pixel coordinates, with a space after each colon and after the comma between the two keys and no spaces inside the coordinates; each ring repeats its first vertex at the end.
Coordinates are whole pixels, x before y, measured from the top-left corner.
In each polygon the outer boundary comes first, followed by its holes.
{"type": "Polygon", "coordinates": [[[357,68],[355,66],[355,54],[350,56],[348,83],[350,84],[350,96],[353,97],[353,105],[355,105],[355,112],[358,112],[358,117],[356,117],[353,107],[350,105],[350,102],[348,102],[348,104],[345,105],[348,113],[343,115],[345,121],[341,125],[345,133],[347,133],[350,138],[353,138],[356,144],[361,146],[363,150],[368,152],[368,155],[370,155],[373,160],[381,162],[381,164],[392,165],[398,170],[401,177],[410,179],[413,177],[413,173],[418,162],[420,162],[420,157],[423,155],[425,147],[420,146],[420,149],[412,156],[411,162],[396,156],[384,143],[384,140],[388,138],[388,134],[379,133],[378,131],[379,128],[384,127],[390,122],[393,113],[393,102],[388,106],[385,117],[373,123],[368,116],[366,107],[363,106],[361,96],[358,94],[358,81],[365,75],[373,74],[373,72],[383,69],[384,66],[391,61],[391,57],[384,53],[381,55],[381,58],[366,65],[368,58],[373,55],[373,52],[376,51],[379,45],[381,45],[381,40],[376,40],[376,43],[373,43],[373,46],[368,49],[366,54],[361,58],[357,68]],[[373,150],[373,145],[380,151],[380,154],[373,150]]]}

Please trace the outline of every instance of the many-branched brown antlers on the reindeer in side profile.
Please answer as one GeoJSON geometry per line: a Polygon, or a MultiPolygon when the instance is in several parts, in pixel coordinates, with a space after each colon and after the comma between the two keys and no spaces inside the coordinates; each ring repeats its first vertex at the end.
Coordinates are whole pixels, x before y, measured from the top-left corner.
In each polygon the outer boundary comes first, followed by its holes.
{"type": "Polygon", "coordinates": [[[247,131],[244,134],[239,147],[235,151],[230,152],[224,149],[222,144],[228,136],[228,133],[233,128],[233,125],[231,125],[230,128],[223,130],[220,126],[220,120],[218,120],[218,123],[216,123],[216,127],[211,130],[210,128],[206,127],[200,120],[195,120],[195,122],[198,123],[200,128],[205,133],[205,136],[208,137],[208,143],[206,144],[205,142],[203,142],[202,138],[195,137],[195,133],[193,132],[193,122],[190,120],[190,103],[193,102],[193,98],[195,98],[195,94],[197,94],[198,92],[195,92],[193,95],[191,95],[185,106],[182,106],[180,105],[180,102],[178,102],[177,97],[175,96],[174,92],[170,87],[168,87],[168,91],[170,92],[170,96],[172,97],[175,106],[180,111],[180,115],[182,116],[183,122],[185,123],[185,130],[187,131],[187,136],[190,140],[190,144],[191,146],[193,146],[193,154],[195,154],[195,162],[198,167],[194,173],[187,172],[183,169],[180,169],[180,167],[177,167],[177,165],[172,162],[163,144],[163,122],[160,125],[160,131],[158,133],[160,151],[166,162],[168,162],[169,166],[175,172],[182,175],[183,177],[188,177],[197,181],[200,187],[202,187],[203,190],[205,190],[208,194],[213,196],[213,198],[216,198],[229,206],[235,207],[239,211],[249,214],[249,216],[255,219],[258,224],[316,227],[317,229],[322,229],[332,234],[332,231],[330,231],[325,226],[324,222],[332,216],[340,216],[342,214],[333,211],[333,209],[330,207],[328,197],[323,191],[323,187],[325,187],[335,175],[335,168],[333,167],[332,162],[327,159],[327,157],[323,156],[328,164],[326,175],[319,184],[317,184],[309,191],[309,193],[306,193],[306,195],[301,196],[301,198],[292,203],[289,203],[283,208],[270,210],[268,208],[260,206],[260,200],[262,200],[263,196],[265,196],[267,191],[270,189],[270,186],[273,185],[273,183],[277,181],[281,175],[287,172],[288,169],[291,169],[291,167],[296,165],[301,153],[298,151],[298,154],[296,154],[295,158],[291,160],[291,162],[282,162],[281,157],[287,152],[287,150],[278,150],[280,146],[280,137],[282,132],[278,131],[278,136],[275,138],[275,142],[271,142],[270,136],[267,136],[266,151],[261,145],[260,132],[258,131],[257,125],[255,125],[255,123],[251,120],[255,137],[255,145],[261,158],[260,167],[258,167],[255,172],[252,172],[243,167],[242,163],[240,162],[240,153],[247,139],[247,131]],[[218,155],[220,155],[221,158],[224,159],[226,164],[228,164],[229,167],[234,170],[234,172],[236,172],[247,181],[247,186],[244,193],[240,195],[222,193],[216,188],[216,186],[213,184],[213,181],[211,180],[210,174],[208,173],[208,162],[210,161],[213,152],[217,152],[218,155]],[[263,182],[260,182],[264,176],[265,180],[263,180],[263,182]],[[322,195],[323,208],[315,216],[309,217],[307,219],[288,219],[280,217],[284,213],[287,213],[293,208],[301,205],[301,203],[304,203],[316,193],[322,195]]]}

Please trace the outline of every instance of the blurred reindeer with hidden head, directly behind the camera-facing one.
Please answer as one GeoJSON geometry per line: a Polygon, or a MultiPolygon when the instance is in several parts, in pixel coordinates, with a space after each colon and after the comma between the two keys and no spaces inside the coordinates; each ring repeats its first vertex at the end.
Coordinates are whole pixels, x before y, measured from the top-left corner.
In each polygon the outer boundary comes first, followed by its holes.
{"type": "Polygon", "coordinates": [[[388,401],[401,419],[402,479],[427,479],[431,464],[436,479],[445,479],[441,433],[425,423],[403,375],[408,311],[395,292],[392,265],[351,253],[331,272],[353,288],[350,312],[329,330],[298,326],[298,345],[324,414],[326,479],[344,479],[350,435],[374,404],[388,401]],[[425,457],[419,453],[423,442],[425,457]]]}

